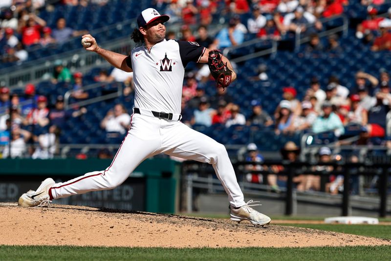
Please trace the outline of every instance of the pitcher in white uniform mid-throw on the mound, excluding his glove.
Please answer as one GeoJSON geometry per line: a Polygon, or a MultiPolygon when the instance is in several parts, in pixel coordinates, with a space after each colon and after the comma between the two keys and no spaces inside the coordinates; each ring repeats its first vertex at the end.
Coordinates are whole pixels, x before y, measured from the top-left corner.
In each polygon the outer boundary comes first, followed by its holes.
{"type": "MultiPolygon", "coordinates": [[[[144,159],[165,153],[213,165],[228,195],[231,220],[247,220],[259,226],[270,223],[270,217],[252,208],[258,204],[244,201],[225,146],[180,121],[185,68],[190,62],[207,63],[210,50],[195,42],[166,40],[164,23],[169,19],[153,8],[143,10],[137,18],[138,28],[132,33],[138,46],[129,56],[99,47],[90,34],[83,36],[91,44],[86,50],[96,52],[116,68],[133,71],[135,107],[128,121],[130,128],[125,131],[127,135],[108,168],[61,183],[47,178],[34,192],[22,194],[19,205],[44,206],[53,199],[114,189],[144,159]]],[[[232,70],[232,80],[235,80],[237,75],[232,64],[224,56],[221,59],[232,70]]]]}

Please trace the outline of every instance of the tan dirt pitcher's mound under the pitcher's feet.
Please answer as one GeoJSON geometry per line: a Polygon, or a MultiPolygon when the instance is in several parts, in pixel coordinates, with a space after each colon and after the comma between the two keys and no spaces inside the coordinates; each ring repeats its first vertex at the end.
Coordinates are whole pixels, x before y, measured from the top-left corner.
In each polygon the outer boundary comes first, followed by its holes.
{"type": "Polygon", "coordinates": [[[0,245],[128,247],[305,247],[391,245],[390,240],[313,229],[254,227],[197,218],[88,207],[23,208],[0,203],[0,245]]]}

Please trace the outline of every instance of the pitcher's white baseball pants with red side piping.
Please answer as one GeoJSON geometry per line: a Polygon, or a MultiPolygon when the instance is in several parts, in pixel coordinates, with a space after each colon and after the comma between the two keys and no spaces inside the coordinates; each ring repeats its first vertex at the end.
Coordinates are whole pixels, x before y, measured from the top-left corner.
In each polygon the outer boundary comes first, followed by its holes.
{"type": "Polygon", "coordinates": [[[56,183],[49,195],[53,199],[95,190],[110,190],[121,185],[145,159],[165,153],[175,157],[212,164],[233,207],[245,204],[234,168],[224,145],[180,121],[169,121],[133,114],[130,130],[111,165],[63,183],[56,183]]]}

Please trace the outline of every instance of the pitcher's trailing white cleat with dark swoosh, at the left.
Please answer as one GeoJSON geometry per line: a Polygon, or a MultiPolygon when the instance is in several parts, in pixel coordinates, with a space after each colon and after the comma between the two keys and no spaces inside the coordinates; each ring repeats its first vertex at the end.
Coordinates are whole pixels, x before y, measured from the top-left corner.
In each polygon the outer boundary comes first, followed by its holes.
{"type": "Polygon", "coordinates": [[[28,190],[19,198],[18,205],[23,207],[50,207],[49,189],[55,184],[51,178],[45,179],[37,190],[28,190]]]}

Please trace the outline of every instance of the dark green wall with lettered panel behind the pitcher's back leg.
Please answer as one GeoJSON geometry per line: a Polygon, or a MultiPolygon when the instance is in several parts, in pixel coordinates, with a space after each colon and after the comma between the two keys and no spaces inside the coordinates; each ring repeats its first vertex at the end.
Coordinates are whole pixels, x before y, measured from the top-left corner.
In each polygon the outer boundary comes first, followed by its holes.
{"type": "MultiPolygon", "coordinates": [[[[46,177],[64,182],[87,172],[104,170],[110,164],[111,160],[100,159],[0,160],[0,201],[16,202],[23,192],[36,189],[46,177]]],[[[55,203],[174,213],[179,171],[180,164],[170,159],[147,159],[114,190],[88,192],[55,203]]]]}

